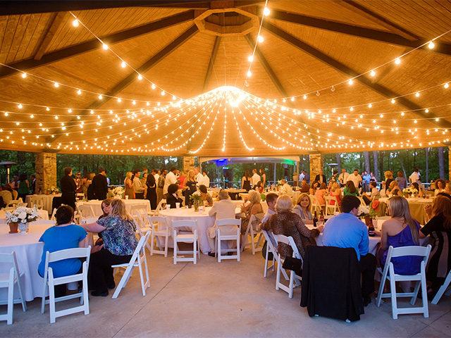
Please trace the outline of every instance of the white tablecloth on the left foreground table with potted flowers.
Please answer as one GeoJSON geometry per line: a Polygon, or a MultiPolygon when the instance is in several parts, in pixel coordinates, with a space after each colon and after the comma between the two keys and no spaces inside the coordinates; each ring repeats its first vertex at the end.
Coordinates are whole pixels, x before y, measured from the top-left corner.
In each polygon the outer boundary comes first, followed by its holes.
{"type": "MultiPolygon", "coordinates": [[[[11,253],[16,251],[16,258],[20,273],[23,273],[23,293],[25,301],[32,301],[42,296],[42,277],[37,273],[37,266],[41,261],[44,243],[38,242],[39,237],[54,223],[33,224],[30,223],[30,231],[22,234],[8,234],[9,227],[0,227],[0,253],[11,253]]],[[[11,266],[0,264],[0,272],[9,272],[11,266]]],[[[14,288],[15,298],[18,297],[17,288],[14,288]]],[[[0,300],[7,299],[6,289],[0,289],[0,300]]]]}

